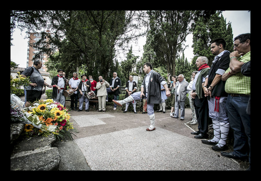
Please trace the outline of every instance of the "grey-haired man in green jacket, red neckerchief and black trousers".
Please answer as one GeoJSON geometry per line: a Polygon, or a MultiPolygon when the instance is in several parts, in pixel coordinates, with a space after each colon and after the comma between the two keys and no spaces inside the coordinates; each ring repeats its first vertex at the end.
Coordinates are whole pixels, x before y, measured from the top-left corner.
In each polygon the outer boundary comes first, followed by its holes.
{"type": "Polygon", "coordinates": [[[191,134],[195,135],[194,137],[197,139],[205,139],[208,138],[208,99],[205,97],[205,93],[203,91],[203,86],[205,83],[205,77],[209,73],[210,67],[207,65],[208,58],[207,57],[198,57],[196,60],[196,66],[198,68],[198,73],[195,75],[193,84],[192,84],[192,92],[190,93],[193,102],[195,113],[197,116],[198,122],[198,131],[191,132],[191,134]]]}

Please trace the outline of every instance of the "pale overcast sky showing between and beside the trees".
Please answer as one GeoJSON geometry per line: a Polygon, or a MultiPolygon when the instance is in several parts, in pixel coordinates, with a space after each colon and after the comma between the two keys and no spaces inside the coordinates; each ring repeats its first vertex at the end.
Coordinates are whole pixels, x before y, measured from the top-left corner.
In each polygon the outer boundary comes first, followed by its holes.
{"type": "MultiPolygon", "coordinates": [[[[250,12],[249,11],[223,11],[224,18],[226,18],[226,23],[231,22],[233,30],[233,38],[242,33],[250,33],[250,12]]],[[[13,33],[14,46],[10,47],[10,59],[16,64],[19,64],[19,67],[26,68],[27,60],[27,46],[28,40],[24,39],[26,34],[20,30],[15,30],[13,33]]],[[[185,57],[188,61],[191,61],[193,58],[193,48],[192,46],[193,36],[190,34],[186,37],[186,45],[189,45],[188,48],[184,51],[185,57]]],[[[133,44],[133,54],[135,56],[142,57],[143,54],[143,45],[146,43],[146,37],[141,37],[138,41],[138,44],[133,44]]],[[[119,61],[126,59],[124,55],[117,57],[119,61]]]]}

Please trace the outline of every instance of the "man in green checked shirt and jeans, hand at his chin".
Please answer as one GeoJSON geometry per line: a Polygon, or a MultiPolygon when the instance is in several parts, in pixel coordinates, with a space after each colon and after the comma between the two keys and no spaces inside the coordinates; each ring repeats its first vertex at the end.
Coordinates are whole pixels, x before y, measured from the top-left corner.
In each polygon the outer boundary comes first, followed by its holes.
{"type": "Polygon", "coordinates": [[[232,152],[221,152],[221,155],[242,159],[247,158],[249,153],[250,164],[250,115],[246,112],[251,92],[250,77],[241,73],[241,66],[250,61],[250,33],[235,37],[233,48],[229,55],[229,68],[222,75],[222,80],[226,81],[225,91],[229,94],[226,108],[234,132],[234,146],[232,152]]]}

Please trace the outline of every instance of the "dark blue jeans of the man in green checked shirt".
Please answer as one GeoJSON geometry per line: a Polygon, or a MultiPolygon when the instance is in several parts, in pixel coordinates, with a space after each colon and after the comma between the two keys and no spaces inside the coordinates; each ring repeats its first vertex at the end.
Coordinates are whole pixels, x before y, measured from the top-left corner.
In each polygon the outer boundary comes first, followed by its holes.
{"type": "Polygon", "coordinates": [[[234,132],[233,154],[244,157],[248,155],[249,151],[250,163],[250,115],[246,112],[248,99],[248,96],[232,97],[228,95],[226,109],[230,128],[234,132]]]}

